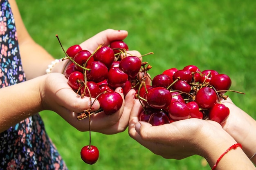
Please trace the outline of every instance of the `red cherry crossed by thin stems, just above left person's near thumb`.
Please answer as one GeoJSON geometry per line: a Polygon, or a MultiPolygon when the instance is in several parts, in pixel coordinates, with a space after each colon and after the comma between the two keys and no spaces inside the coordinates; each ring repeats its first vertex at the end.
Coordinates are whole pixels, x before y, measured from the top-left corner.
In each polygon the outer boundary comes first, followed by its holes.
{"type": "Polygon", "coordinates": [[[86,82],[86,86],[81,88],[81,95],[83,94],[84,96],[96,98],[100,93],[99,85],[92,81],[86,82]]]}

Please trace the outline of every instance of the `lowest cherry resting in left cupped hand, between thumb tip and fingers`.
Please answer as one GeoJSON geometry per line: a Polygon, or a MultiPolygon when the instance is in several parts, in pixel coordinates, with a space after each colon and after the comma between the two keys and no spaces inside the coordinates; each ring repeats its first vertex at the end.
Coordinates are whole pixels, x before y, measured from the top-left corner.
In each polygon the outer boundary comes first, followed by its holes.
{"type": "Polygon", "coordinates": [[[123,104],[123,98],[117,92],[103,93],[98,98],[99,104],[106,115],[117,112],[123,104]]]}

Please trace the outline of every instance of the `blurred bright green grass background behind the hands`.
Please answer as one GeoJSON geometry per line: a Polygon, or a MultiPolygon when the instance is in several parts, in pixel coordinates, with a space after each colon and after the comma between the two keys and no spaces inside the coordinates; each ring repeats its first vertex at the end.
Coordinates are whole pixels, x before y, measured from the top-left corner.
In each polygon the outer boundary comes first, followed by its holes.
{"type": "MultiPolygon", "coordinates": [[[[232,79],[228,93],[234,103],[256,118],[256,1],[252,0],[17,0],[31,36],[56,58],[63,46],[79,44],[105,29],[129,32],[125,42],[153,68],[164,70],[196,65],[214,69],[232,79]]],[[[89,144],[89,133],[79,132],[56,113],[40,113],[70,170],[209,170],[199,156],[182,160],[154,155],[131,139],[126,130],[116,135],[92,132],[100,157],[85,164],[80,150],[89,144]]]]}

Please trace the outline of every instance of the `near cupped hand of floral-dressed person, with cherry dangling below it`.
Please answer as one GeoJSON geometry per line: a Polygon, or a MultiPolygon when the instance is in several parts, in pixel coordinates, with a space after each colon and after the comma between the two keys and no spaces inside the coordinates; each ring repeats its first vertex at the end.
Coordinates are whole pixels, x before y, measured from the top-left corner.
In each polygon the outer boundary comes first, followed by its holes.
{"type": "MultiPolygon", "coordinates": [[[[79,113],[90,108],[90,98],[77,95],[67,84],[67,79],[60,73],[45,75],[45,81],[40,88],[44,110],[53,110],[69,124],[80,131],[89,130],[88,118],[78,120],[79,113]]],[[[124,99],[121,87],[115,90],[123,97],[123,105],[112,115],[103,112],[91,115],[91,130],[104,134],[114,134],[124,131],[128,126],[130,110],[134,104],[135,91],[130,90],[124,99]]],[[[94,99],[92,99],[93,101],[94,99]]],[[[99,102],[92,106],[92,111],[99,109],[99,102]]]]}

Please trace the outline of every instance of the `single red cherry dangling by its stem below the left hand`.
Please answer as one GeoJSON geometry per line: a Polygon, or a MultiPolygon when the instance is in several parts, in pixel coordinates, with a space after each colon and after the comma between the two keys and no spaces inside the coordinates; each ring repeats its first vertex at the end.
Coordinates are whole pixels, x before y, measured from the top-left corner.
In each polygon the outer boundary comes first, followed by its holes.
{"type": "Polygon", "coordinates": [[[99,150],[96,146],[84,146],[80,152],[81,159],[90,165],[97,162],[99,159],[99,150]]]}

